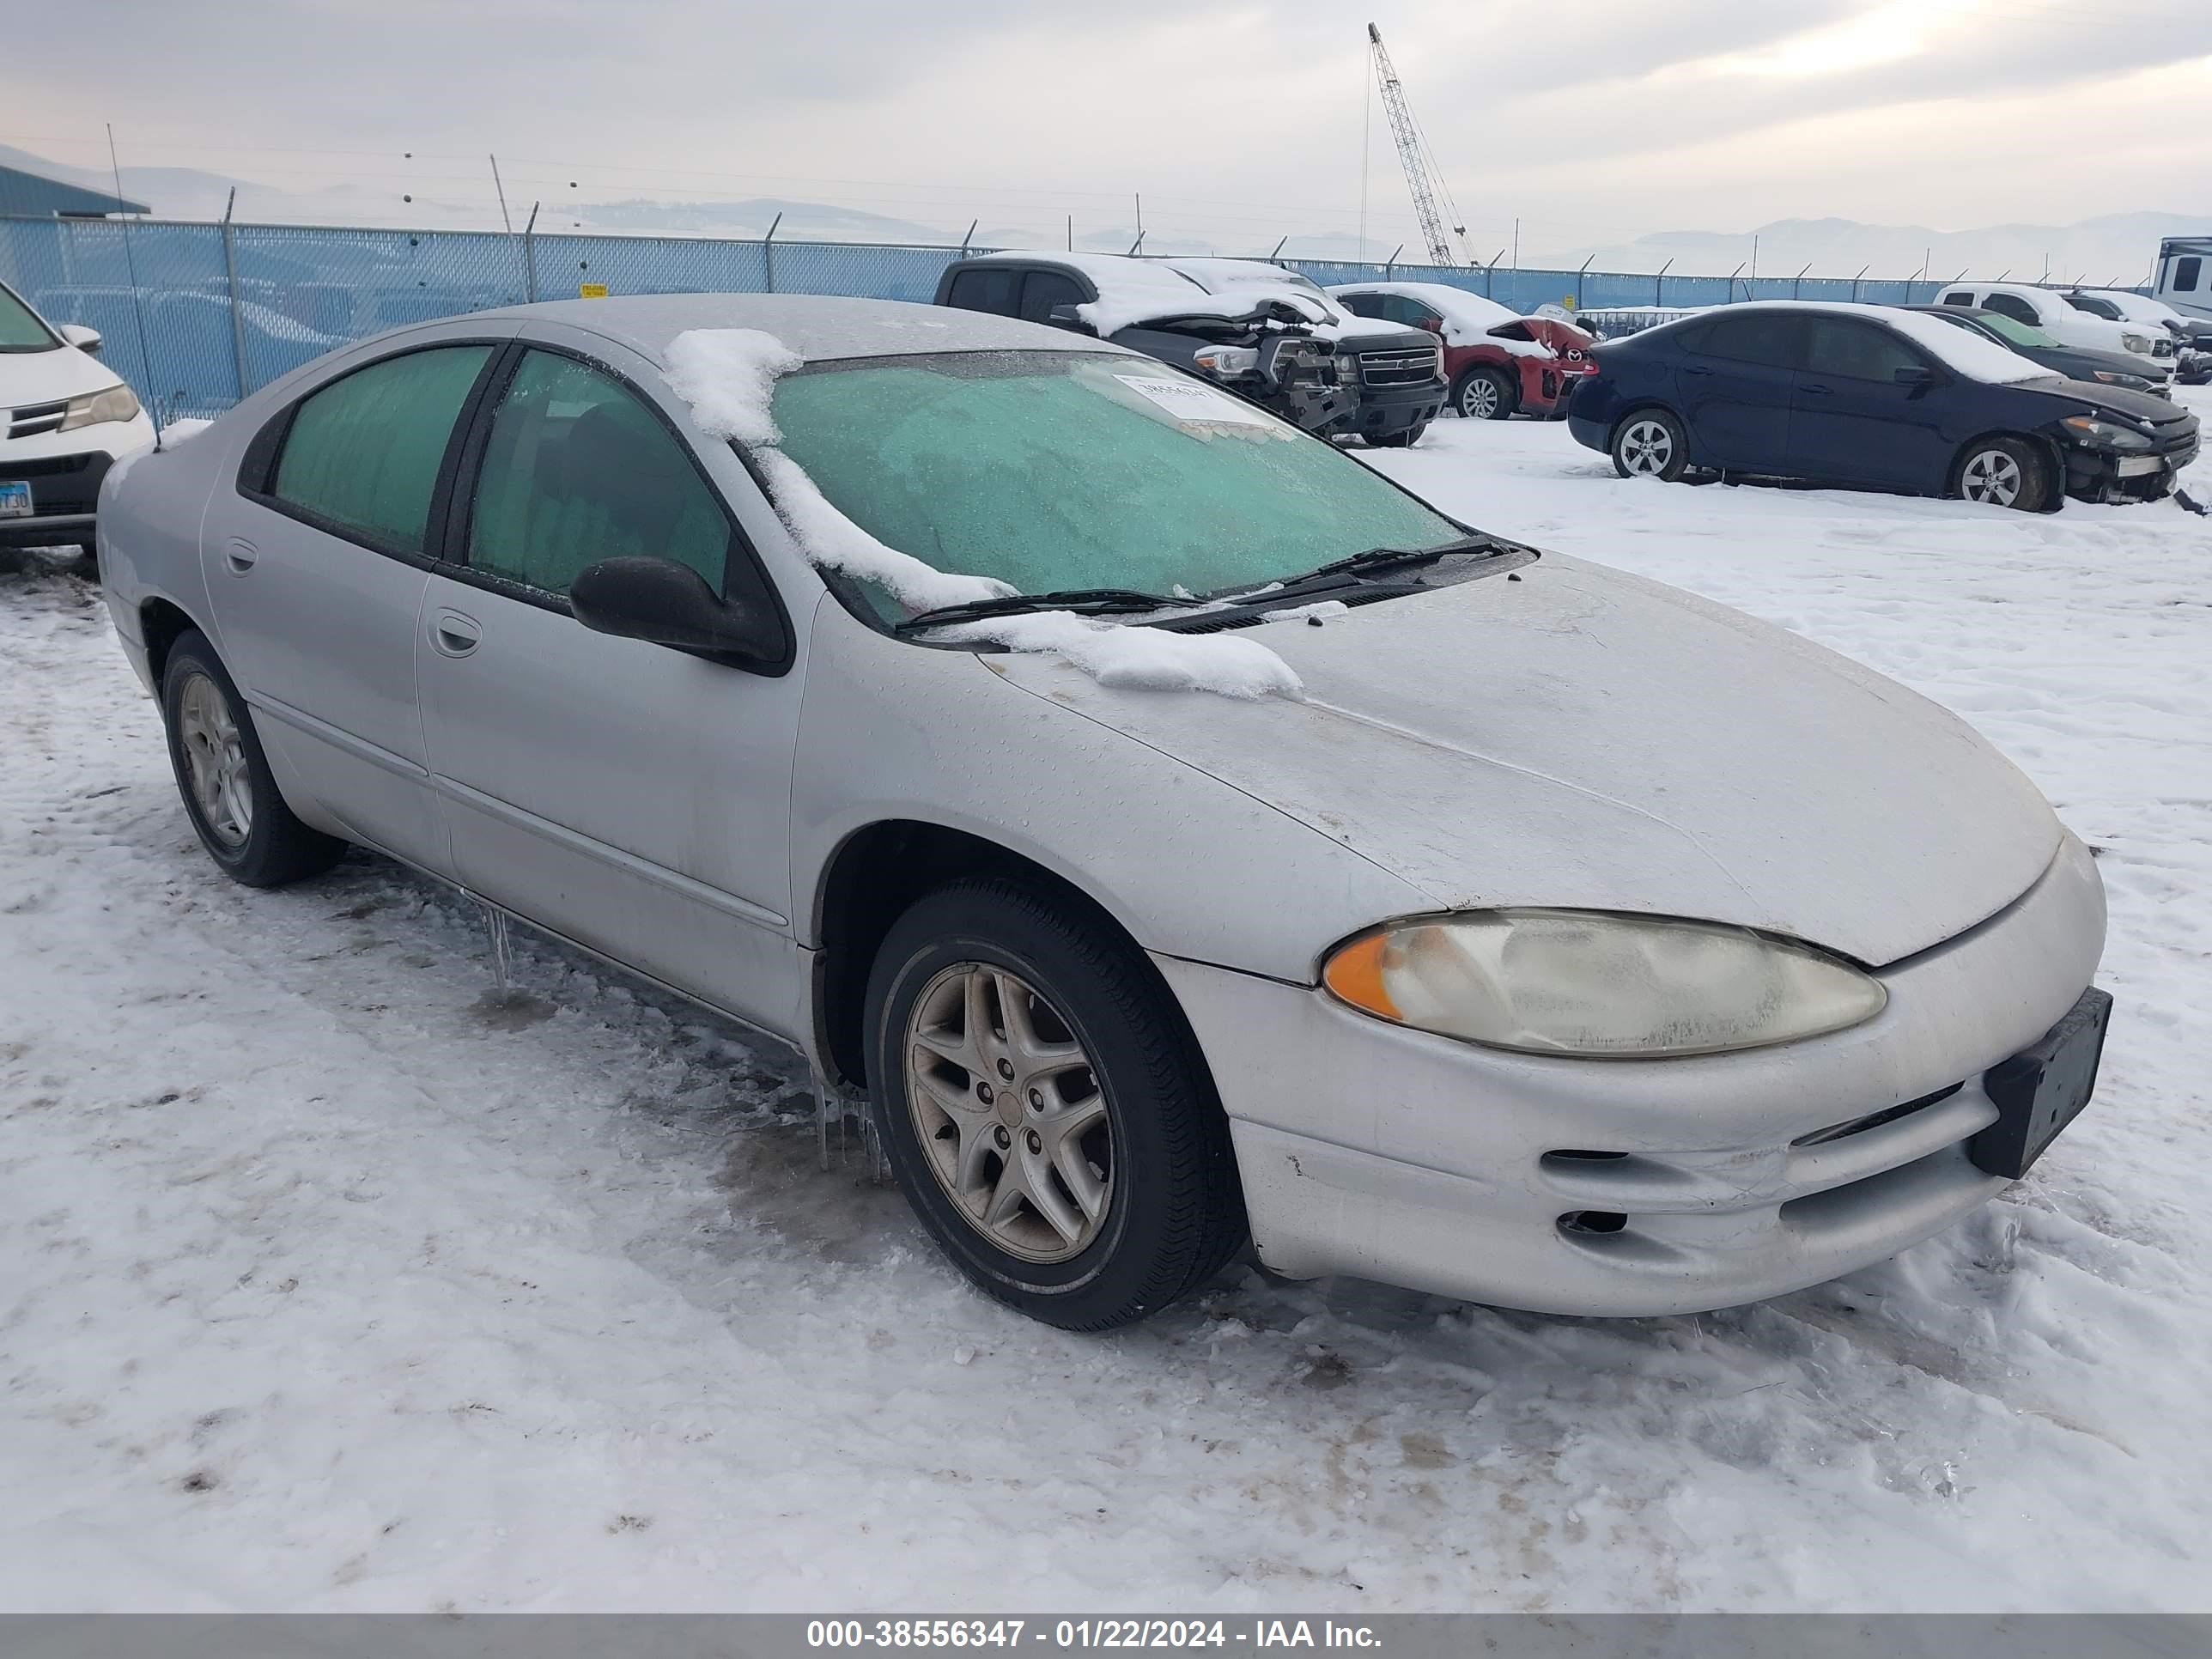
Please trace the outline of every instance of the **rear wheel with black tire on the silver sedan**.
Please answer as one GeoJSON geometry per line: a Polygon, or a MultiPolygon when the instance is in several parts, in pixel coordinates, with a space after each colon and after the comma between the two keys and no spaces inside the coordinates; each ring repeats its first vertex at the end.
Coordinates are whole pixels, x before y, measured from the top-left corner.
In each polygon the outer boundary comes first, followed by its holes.
{"type": "Polygon", "coordinates": [[[226,876],[248,887],[283,887],[321,876],[345,856],[343,841],[292,816],[246,699],[199,630],[168,648],[161,723],[184,812],[226,876]]]}

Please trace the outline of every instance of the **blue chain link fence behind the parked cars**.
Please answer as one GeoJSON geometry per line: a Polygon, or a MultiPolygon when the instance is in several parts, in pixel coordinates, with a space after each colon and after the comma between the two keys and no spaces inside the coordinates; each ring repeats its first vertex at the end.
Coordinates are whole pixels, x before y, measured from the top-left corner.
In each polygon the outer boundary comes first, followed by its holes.
{"type": "MultiPolygon", "coordinates": [[[[973,250],[982,252],[982,250],[973,250]]],[[[504,234],[0,217],[0,281],[104,358],[157,420],[210,416],[336,345],[434,316],[611,294],[847,294],[929,301],[960,248],[708,237],[504,234]]],[[[1940,283],[1632,276],[1285,259],[1316,283],[1449,283],[1517,312],[1734,299],[1924,303],[1940,283]]]]}

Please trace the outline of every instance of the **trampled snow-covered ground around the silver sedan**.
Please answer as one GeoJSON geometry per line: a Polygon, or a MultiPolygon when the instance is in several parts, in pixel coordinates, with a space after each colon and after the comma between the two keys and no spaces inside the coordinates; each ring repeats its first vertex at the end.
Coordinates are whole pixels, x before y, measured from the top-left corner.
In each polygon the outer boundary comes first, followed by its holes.
{"type": "Polygon", "coordinates": [[[93,591],[4,573],[0,1608],[2212,1606],[2212,522],[1376,462],[2042,783],[2119,1009],[2026,1183],[1703,1318],[1232,1270],[1062,1336],[821,1172],[781,1055],[531,940],[502,998],[367,856],[228,885],[93,591]]]}

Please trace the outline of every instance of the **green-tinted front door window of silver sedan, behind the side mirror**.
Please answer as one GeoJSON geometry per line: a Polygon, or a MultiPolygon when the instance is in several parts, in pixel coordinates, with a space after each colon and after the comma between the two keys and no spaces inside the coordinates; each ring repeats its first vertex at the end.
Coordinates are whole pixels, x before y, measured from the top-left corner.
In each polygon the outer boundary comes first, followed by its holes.
{"type": "Polygon", "coordinates": [[[591,564],[688,564],[723,591],[730,520],[659,416],[613,376],[531,352],[491,418],[469,566],[566,593],[591,564]]]}

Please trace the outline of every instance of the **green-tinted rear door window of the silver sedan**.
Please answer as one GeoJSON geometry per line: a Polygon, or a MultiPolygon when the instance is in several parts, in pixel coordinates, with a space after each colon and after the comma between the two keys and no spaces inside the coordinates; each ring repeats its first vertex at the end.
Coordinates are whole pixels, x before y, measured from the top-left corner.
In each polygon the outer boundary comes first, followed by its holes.
{"type": "Polygon", "coordinates": [[[312,392],[270,493],[387,553],[420,553],[453,420],[489,345],[407,352],[312,392]]]}

